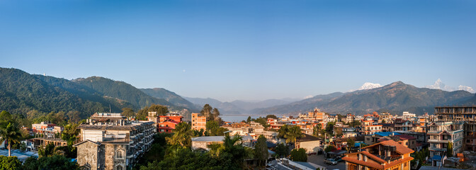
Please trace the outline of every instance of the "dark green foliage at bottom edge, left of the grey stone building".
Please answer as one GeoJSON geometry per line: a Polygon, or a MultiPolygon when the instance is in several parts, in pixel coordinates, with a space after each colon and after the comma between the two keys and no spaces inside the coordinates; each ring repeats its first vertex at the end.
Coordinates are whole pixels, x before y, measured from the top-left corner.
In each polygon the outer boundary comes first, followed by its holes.
{"type": "Polygon", "coordinates": [[[71,159],[68,159],[62,155],[55,155],[52,157],[41,157],[40,159],[30,157],[26,159],[25,163],[23,164],[23,169],[76,170],[79,169],[79,166],[76,162],[71,162],[71,159]]]}

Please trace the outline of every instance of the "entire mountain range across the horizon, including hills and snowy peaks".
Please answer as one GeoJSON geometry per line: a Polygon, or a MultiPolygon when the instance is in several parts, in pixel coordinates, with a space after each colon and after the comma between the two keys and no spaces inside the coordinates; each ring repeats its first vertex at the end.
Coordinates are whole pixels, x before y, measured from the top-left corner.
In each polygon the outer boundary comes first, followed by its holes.
{"type": "Polygon", "coordinates": [[[221,102],[212,98],[182,97],[162,88],[137,89],[123,81],[104,77],[67,80],[0,68],[0,110],[11,113],[79,111],[81,117],[86,118],[95,112],[121,112],[122,108],[138,111],[151,104],[168,106],[171,111],[186,108],[198,112],[207,103],[219,108],[222,115],[283,115],[305,113],[313,108],[328,113],[409,111],[422,114],[433,113],[434,106],[475,105],[476,96],[468,91],[418,88],[396,81],[386,86],[366,83],[356,91],[317,95],[303,100],[221,102]]]}

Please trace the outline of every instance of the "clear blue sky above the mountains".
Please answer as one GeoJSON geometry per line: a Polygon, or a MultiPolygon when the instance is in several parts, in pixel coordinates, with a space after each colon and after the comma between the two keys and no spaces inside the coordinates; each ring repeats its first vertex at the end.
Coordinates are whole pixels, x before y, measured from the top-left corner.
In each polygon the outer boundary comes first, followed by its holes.
{"type": "Polygon", "coordinates": [[[476,1],[0,1],[0,67],[188,97],[476,89],[476,1]]]}

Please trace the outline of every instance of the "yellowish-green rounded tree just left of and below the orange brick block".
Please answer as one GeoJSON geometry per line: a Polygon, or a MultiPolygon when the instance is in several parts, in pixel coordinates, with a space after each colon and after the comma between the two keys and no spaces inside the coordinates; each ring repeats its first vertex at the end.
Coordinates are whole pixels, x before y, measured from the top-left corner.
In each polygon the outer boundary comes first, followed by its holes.
{"type": "Polygon", "coordinates": [[[167,142],[170,145],[180,145],[181,147],[190,147],[192,145],[192,135],[191,125],[188,123],[179,123],[175,126],[175,129],[172,130],[174,135],[172,137],[166,137],[167,142]]]}

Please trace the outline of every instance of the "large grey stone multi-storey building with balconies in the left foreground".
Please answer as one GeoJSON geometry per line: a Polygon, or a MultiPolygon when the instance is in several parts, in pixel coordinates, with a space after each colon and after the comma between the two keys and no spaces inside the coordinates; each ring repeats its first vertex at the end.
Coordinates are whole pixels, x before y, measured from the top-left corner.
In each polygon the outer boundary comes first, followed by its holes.
{"type": "Polygon", "coordinates": [[[131,169],[147,152],[157,128],[154,122],[128,121],[120,113],[95,113],[79,125],[77,162],[81,169],[131,169]]]}

